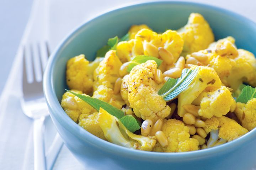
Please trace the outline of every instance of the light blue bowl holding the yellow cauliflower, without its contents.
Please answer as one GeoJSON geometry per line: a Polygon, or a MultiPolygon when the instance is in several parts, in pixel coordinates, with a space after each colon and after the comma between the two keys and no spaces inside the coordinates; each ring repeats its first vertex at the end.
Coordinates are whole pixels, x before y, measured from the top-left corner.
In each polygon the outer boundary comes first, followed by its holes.
{"type": "Polygon", "coordinates": [[[214,148],[184,153],[156,153],[128,149],[103,141],[82,129],[60,106],[66,62],[81,53],[89,60],[108,38],[127,33],[133,24],[147,24],[156,32],[184,26],[191,12],[201,13],[215,39],[233,36],[239,48],[256,54],[256,24],[222,8],[191,2],[149,2],[107,12],[76,28],[55,49],[44,73],[44,94],[50,116],[65,145],[88,169],[207,169],[244,170],[256,165],[256,129],[214,148]]]}

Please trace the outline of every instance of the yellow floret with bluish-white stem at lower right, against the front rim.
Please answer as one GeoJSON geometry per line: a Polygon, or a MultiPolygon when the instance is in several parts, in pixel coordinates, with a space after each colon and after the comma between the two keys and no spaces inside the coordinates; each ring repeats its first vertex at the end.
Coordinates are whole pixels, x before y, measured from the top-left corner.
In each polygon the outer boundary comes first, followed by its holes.
{"type": "Polygon", "coordinates": [[[204,130],[207,134],[210,132],[210,138],[207,141],[208,148],[235,140],[248,132],[247,129],[243,128],[235,120],[225,116],[219,118],[212,117],[207,119],[205,123],[204,130]]]}

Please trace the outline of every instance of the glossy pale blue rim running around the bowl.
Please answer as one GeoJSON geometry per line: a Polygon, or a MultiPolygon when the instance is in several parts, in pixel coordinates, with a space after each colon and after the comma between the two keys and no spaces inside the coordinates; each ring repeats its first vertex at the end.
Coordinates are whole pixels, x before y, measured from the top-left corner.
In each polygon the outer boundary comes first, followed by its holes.
{"type": "MultiPolygon", "coordinates": [[[[116,155],[121,155],[122,157],[127,157],[127,158],[139,158],[140,160],[149,160],[149,159],[155,159],[159,161],[164,161],[164,160],[172,160],[172,161],[178,161],[181,162],[183,158],[184,159],[196,159],[196,158],[202,158],[202,157],[207,157],[212,154],[218,154],[220,152],[228,152],[232,151],[232,149],[238,148],[239,146],[242,146],[243,143],[250,142],[252,138],[256,138],[256,128],[249,131],[247,134],[243,135],[242,137],[230,141],[228,143],[225,143],[223,145],[219,145],[213,148],[207,148],[203,150],[198,150],[198,151],[190,151],[190,152],[180,152],[180,153],[161,153],[161,152],[147,152],[147,151],[139,151],[135,149],[130,149],[122,146],[118,146],[116,144],[113,144],[111,142],[104,141],[83,128],[81,128],[78,124],[76,124],[73,120],[71,120],[68,115],[65,114],[64,110],[60,106],[60,103],[57,99],[57,96],[55,95],[54,87],[53,87],[53,63],[57,60],[55,56],[58,56],[60,51],[65,48],[66,44],[72,39],[75,34],[78,34],[79,31],[86,27],[89,24],[92,24],[93,22],[97,21],[97,19],[101,18],[102,16],[105,15],[110,15],[112,13],[118,13],[118,11],[121,10],[129,10],[129,8],[133,7],[138,7],[138,6],[145,6],[145,5],[160,5],[160,4],[175,4],[175,5],[193,5],[193,6],[198,6],[198,7],[204,7],[208,8],[214,11],[219,11],[222,12],[226,15],[233,16],[238,20],[241,20],[243,22],[246,22],[247,24],[250,24],[256,28],[256,23],[251,21],[250,19],[241,16],[235,12],[226,10],[224,8],[212,6],[212,5],[207,5],[207,4],[202,4],[202,3],[197,3],[197,2],[186,2],[186,1],[150,1],[150,2],[143,2],[143,3],[136,3],[128,6],[123,6],[116,8],[114,10],[105,12],[103,14],[100,14],[90,20],[87,20],[85,23],[80,24],[80,26],[76,27],[71,31],[71,33],[68,34],[55,48],[54,52],[50,55],[47,67],[44,72],[43,76],[43,90],[44,90],[44,95],[46,98],[46,102],[48,105],[48,108],[50,110],[50,115],[51,117],[54,117],[59,124],[62,125],[63,128],[68,130],[71,134],[75,135],[77,138],[79,138],[82,142],[89,143],[90,145],[101,149],[102,151],[106,151],[108,153],[113,153],[116,155]],[[64,114],[64,116],[63,116],[64,114]],[[125,153],[125,154],[124,154],[125,153]]],[[[61,136],[61,134],[60,134],[61,136]]],[[[65,141],[64,141],[65,142],[65,141]]]]}

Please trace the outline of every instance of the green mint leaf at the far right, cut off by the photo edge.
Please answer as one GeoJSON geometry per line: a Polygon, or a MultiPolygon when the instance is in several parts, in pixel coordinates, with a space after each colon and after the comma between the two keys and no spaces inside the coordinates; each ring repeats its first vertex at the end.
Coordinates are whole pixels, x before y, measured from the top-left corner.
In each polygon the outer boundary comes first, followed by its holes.
{"type": "Polygon", "coordinates": [[[245,86],[238,98],[236,99],[236,102],[240,103],[247,103],[252,98],[256,98],[256,88],[252,88],[251,86],[245,86]]]}

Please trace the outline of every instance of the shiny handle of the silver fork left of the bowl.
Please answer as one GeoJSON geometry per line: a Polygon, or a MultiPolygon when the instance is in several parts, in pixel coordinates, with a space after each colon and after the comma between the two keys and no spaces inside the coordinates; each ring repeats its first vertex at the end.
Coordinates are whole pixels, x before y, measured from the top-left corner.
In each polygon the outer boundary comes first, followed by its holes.
{"type": "Polygon", "coordinates": [[[44,119],[34,119],[34,170],[46,170],[44,154],[44,119]]]}

